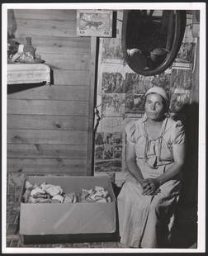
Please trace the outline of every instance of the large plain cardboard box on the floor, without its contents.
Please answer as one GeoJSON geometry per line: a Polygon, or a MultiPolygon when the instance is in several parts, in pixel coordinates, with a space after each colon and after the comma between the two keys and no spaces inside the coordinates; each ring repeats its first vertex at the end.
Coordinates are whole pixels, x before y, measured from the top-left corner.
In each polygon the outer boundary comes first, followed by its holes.
{"type": "MultiPolygon", "coordinates": [[[[41,237],[43,241],[44,236],[54,238],[54,235],[73,235],[73,237],[84,235],[87,238],[87,234],[114,234],[116,232],[116,197],[110,178],[106,176],[28,176],[26,180],[32,184],[59,185],[64,192],[81,192],[82,188],[102,186],[109,192],[112,201],[32,204],[24,203],[21,197],[20,235],[23,235],[24,242],[26,242],[26,237],[41,237]]],[[[23,193],[24,189],[22,195],[23,193]]]]}

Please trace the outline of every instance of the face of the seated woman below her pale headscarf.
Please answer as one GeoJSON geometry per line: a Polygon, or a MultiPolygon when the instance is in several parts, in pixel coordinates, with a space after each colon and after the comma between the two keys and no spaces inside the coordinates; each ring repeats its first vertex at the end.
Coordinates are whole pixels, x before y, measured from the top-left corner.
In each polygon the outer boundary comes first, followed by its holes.
{"type": "Polygon", "coordinates": [[[147,95],[144,108],[149,119],[153,121],[160,121],[163,119],[165,106],[163,97],[158,93],[149,93],[147,95]]]}

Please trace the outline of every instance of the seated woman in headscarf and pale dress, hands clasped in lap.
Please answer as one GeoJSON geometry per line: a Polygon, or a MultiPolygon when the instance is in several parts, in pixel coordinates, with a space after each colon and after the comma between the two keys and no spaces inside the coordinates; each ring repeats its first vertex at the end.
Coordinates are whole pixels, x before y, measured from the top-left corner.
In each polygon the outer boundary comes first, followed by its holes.
{"type": "Polygon", "coordinates": [[[166,115],[163,88],[146,92],[144,109],[125,129],[129,173],[118,196],[120,235],[125,246],[159,248],[181,189],[185,135],[181,121],[166,115]]]}

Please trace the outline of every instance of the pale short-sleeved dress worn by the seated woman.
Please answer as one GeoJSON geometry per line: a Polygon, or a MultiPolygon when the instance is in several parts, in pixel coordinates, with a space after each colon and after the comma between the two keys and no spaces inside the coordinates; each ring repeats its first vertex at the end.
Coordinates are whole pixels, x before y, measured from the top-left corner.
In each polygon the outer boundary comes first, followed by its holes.
{"type": "MultiPolygon", "coordinates": [[[[165,118],[156,140],[146,132],[147,116],[130,122],[126,128],[126,140],[135,145],[136,163],[144,178],[158,178],[174,164],[172,145],[185,142],[181,121],[165,118]]],[[[159,234],[165,234],[173,216],[181,188],[180,178],[160,187],[156,196],[142,195],[142,187],[130,174],[118,196],[119,228],[121,243],[130,247],[160,247],[159,234]]]]}

